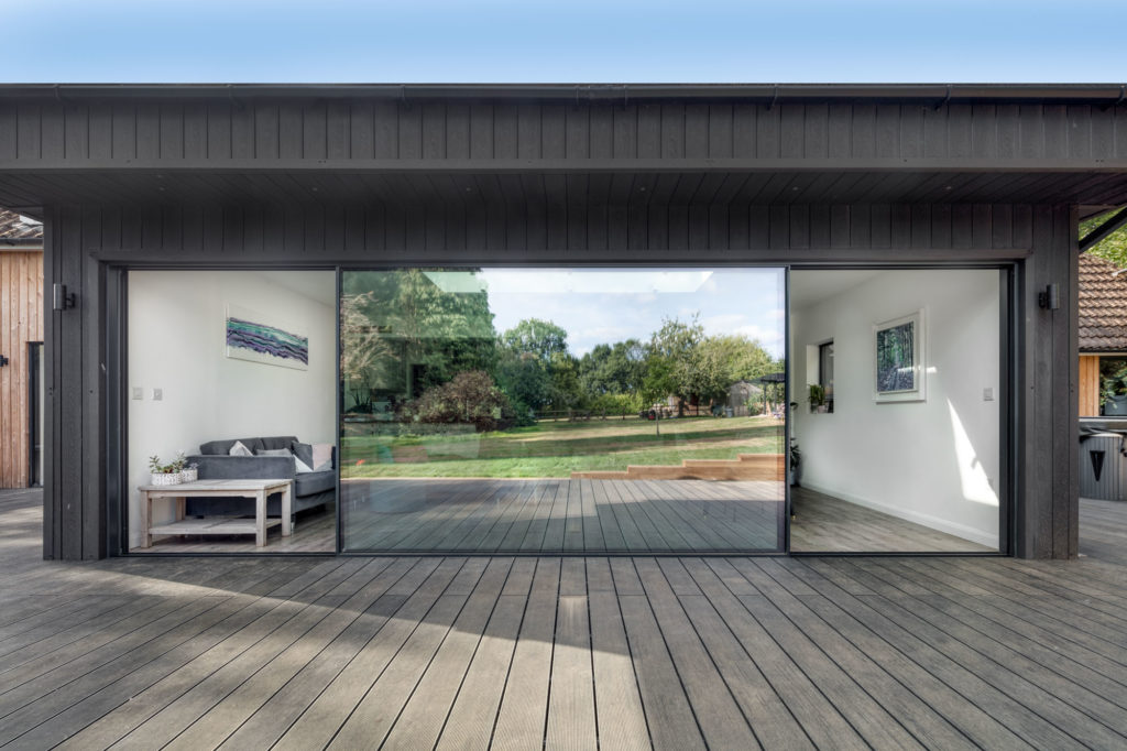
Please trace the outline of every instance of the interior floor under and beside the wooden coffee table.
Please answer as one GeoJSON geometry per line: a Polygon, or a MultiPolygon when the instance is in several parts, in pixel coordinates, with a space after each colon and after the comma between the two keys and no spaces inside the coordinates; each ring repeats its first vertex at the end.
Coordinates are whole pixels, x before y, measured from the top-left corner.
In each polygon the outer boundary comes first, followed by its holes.
{"type": "Polygon", "coordinates": [[[132,548],[131,554],[151,553],[336,553],[336,507],[298,512],[293,534],[282,537],[282,527],[267,530],[266,546],[255,546],[254,534],[153,536],[152,547],[132,548]]]}

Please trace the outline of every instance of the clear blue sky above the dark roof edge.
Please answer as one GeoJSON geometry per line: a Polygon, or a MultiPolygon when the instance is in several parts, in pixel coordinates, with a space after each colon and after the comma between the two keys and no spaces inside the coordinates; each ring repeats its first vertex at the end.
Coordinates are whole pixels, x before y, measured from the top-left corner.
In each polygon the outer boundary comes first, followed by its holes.
{"type": "Polygon", "coordinates": [[[1120,82],[1127,2],[0,0],[3,82],[1120,82]]]}

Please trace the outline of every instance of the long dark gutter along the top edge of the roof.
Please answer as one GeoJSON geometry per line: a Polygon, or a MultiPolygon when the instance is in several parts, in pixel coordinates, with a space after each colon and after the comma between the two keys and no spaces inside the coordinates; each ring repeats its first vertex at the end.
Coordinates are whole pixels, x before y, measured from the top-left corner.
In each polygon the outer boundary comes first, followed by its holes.
{"type": "Polygon", "coordinates": [[[0,100],[321,99],[631,103],[648,100],[1073,103],[1111,107],[1127,101],[1124,83],[14,83],[0,100]]]}

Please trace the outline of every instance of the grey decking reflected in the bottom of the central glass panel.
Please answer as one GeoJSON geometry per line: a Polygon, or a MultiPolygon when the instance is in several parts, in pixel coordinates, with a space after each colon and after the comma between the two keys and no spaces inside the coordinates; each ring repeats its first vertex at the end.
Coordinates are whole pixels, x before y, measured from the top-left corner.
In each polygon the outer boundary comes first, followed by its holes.
{"type": "Polygon", "coordinates": [[[781,481],[349,479],[346,550],[513,554],[782,549],[781,481]]]}

